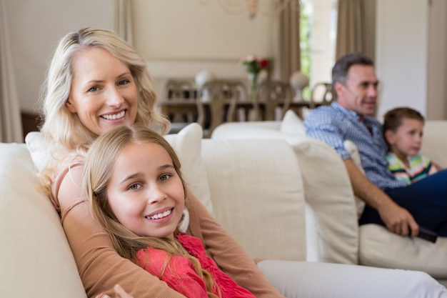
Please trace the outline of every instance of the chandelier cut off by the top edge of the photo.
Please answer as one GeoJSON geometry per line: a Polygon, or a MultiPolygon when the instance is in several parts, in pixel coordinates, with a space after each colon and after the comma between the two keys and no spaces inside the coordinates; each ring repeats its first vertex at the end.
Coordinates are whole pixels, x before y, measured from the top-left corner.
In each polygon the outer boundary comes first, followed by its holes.
{"type": "MultiPolygon", "coordinates": [[[[201,4],[209,4],[211,0],[199,0],[201,4]]],[[[278,15],[291,6],[291,9],[298,9],[300,0],[216,0],[224,11],[229,14],[246,14],[252,19],[261,13],[266,16],[278,15]]]]}

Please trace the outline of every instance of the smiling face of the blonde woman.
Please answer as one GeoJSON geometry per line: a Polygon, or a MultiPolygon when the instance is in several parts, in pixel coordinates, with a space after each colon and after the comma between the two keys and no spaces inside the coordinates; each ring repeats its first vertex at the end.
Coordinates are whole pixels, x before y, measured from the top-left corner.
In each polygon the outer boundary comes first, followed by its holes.
{"type": "Polygon", "coordinates": [[[89,131],[100,135],[116,124],[133,124],[138,92],[129,67],[101,48],[81,50],[73,61],[66,107],[89,131]]]}

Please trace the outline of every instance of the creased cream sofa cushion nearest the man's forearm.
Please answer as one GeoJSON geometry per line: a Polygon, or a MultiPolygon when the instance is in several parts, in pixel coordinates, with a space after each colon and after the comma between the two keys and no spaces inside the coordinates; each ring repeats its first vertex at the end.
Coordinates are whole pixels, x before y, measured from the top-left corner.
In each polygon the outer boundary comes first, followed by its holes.
{"type": "Polygon", "coordinates": [[[307,204],[307,260],[358,264],[356,204],[343,161],[330,146],[308,137],[293,149],[307,204]]]}

